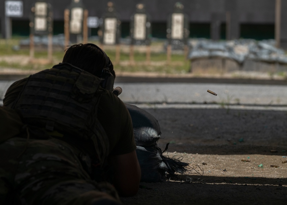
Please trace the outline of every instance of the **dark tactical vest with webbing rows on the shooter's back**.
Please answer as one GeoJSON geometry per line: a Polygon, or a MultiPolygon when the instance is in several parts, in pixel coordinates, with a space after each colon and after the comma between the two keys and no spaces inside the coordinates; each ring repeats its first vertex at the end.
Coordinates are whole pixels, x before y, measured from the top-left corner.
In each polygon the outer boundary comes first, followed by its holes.
{"type": "MultiPolygon", "coordinates": [[[[31,75],[13,104],[28,125],[91,139],[100,164],[109,142],[97,119],[102,79],[68,63],[31,75]]],[[[80,140],[79,140],[80,142],[80,140]]]]}

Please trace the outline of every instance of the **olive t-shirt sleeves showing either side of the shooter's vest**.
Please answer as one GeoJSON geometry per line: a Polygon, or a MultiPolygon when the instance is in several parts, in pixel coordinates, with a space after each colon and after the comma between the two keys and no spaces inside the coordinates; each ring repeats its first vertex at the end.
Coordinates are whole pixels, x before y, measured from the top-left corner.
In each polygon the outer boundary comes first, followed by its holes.
{"type": "MultiPolygon", "coordinates": [[[[7,90],[3,106],[10,107],[27,78],[14,82],[7,90]]],[[[136,149],[133,125],[129,111],[112,92],[105,90],[98,105],[98,120],[106,131],[110,143],[110,155],[127,154],[136,149]]]]}

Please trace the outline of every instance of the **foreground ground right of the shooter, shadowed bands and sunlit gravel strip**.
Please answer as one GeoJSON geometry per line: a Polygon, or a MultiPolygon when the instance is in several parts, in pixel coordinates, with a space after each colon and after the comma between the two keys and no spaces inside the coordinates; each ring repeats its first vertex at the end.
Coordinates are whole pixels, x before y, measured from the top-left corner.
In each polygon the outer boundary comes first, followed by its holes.
{"type": "Polygon", "coordinates": [[[170,143],[164,155],[204,174],[141,183],[124,204],[287,204],[287,111],[146,110],[161,127],[158,146],[170,143]]]}

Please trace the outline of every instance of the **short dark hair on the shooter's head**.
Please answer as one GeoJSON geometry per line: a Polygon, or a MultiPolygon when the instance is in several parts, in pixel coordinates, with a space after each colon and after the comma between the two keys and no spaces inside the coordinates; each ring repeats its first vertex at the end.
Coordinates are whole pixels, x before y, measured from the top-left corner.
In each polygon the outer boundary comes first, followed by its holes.
{"type": "MultiPolygon", "coordinates": [[[[66,50],[62,63],[70,63],[101,77],[102,70],[106,68],[106,57],[103,52],[92,43],[72,45],[66,50]]],[[[109,71],[116,77],[112,62],[110,62],[109,71]]]]}

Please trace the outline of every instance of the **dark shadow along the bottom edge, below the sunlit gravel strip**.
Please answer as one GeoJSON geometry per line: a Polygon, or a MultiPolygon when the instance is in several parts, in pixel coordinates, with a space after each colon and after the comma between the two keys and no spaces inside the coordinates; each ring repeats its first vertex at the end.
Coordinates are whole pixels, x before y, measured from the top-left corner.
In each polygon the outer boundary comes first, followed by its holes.
{"type": "MultiPolygon", "coordinates": [[[[138,194],[122,198],[124,204],[286,204],[287,179],[208,177],[195,181],[141,183],[138,194]]],[[[173,179],[179,180],[179,179],[173,179]]]]}

